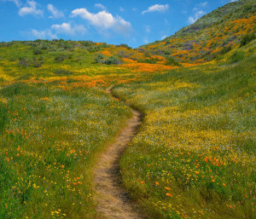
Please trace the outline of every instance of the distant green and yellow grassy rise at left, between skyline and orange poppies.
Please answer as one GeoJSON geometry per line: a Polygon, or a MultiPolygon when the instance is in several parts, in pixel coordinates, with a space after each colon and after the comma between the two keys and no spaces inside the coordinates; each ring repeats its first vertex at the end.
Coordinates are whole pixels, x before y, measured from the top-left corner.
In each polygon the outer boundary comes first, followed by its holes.
{"type": "Polygon", "coordinates": [[[108,59],[108,65],[104,63],[95,63],[96,53],[109,47],[107,44],[97,45],[90,42],[68,42],[45,41],[36,42],[10,42],[0,44],[0,78],[16,79],[23,77],[28,72],[31,78],[49,78],[67,76],[65,73],[56,73],[58,71],[73,72],[73,76],[104,76],[118,72],[128,72],[120,66],[111,65],[116,60],[108,59]],[[84,46],[84,44],[86,46],[84,46]],[[45,48],[44,48],[45,47],[45,48]],[[39,49],[43,48],[43,49],[39,49]],[[37,50],[35,54],[35,49],[37,50]],[[40,53],[38,53],[38,49],[40,53]]]}

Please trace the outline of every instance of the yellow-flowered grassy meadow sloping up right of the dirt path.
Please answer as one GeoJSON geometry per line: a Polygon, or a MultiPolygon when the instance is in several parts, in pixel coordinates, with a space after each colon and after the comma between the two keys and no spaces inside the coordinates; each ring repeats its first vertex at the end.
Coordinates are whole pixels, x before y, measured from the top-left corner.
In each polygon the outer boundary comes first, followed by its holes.
{"type": "Polygon", "coordinates": [[[114,89],[144,114],[121,171],[153,218],[255,218],[255,49],[114,89]]]}

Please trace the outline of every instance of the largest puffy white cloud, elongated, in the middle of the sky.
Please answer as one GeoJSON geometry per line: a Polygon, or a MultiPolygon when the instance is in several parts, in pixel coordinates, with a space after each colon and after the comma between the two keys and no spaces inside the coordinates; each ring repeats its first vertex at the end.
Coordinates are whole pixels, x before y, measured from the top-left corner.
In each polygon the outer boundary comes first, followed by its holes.
{"type": "MultiPolygon", "coordinates": [[[[90,13],[87,9],[74,9],[71,17],[79,16],[84,20],[88,20],[92,26],[104,30],[112,30],[123,35],[129,35],[131,32],[131,23],[125,21],[122,17],[113,17],[112,14],[103,10],[97,14],[90,13]]],[[[102,31],[98,29],[99,31],[102,31]]]]}

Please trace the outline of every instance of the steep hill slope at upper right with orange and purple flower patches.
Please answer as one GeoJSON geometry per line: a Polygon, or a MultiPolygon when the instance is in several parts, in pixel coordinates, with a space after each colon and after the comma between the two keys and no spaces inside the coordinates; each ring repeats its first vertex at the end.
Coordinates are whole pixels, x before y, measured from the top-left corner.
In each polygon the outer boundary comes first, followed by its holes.
{"type": "Polygon", "coordinates": [[[157,55],[172,55],[181,62],[212,61],[240,44],[256,30],[256,2],[241,0],[212,11],[171,37],[143,45],[157,55]]]}

